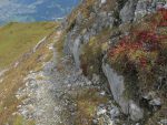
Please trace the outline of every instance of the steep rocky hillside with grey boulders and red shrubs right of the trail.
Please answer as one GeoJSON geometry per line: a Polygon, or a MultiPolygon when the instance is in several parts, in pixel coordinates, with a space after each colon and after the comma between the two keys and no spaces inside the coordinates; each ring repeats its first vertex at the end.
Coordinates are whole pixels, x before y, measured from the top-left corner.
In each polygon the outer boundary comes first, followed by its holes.
{"type": "Polygon", "coordinates": [[[166,17],[165,0],[84,0],[62,23],[59,54],[107,79],[126,124],[166,124],[166,17]]]}

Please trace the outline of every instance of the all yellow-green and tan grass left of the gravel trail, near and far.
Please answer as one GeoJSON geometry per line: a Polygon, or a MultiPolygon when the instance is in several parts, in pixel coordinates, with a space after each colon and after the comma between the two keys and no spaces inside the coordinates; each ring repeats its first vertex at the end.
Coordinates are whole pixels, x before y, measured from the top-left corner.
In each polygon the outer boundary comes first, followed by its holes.
{"type": "MultiPolygon", "coordinates": [[[[47,42],[32,53],[30,56],[22,58],[22,62],[17,67],[11,67],[0,83],[0,125],[33,125],[33,121],[24,121],[21,116],[12,116],[21,101],[16,98],[18,88],[24,85],[23,77],[33,70],[41,69],[42,63],[48,61],[52,53],[48,44],[56,35],[52,31],[58,24],[53,22],[35,23],[10,23],[0,29],[0,67],[8,66],[22,54],[29,52],[39,40],[47,37],[47,42]],[[11,35],[10,32],[12,31],[11,35]],[[40,59],[39,59],[40,56],[40,59]]],[[[1,79],[1,77],[0,77],[1,79]]]]}

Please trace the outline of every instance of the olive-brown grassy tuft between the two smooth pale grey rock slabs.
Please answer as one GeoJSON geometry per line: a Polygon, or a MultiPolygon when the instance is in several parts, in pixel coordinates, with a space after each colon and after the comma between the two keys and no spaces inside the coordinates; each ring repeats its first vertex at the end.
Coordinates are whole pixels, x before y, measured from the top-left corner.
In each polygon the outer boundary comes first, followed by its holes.
{"type": "Polygon", "coordinates": [[[104,29],[98,35],[92,37],[87,44],[82,45],[81,69],[85,75],[101,74],[104,52],[108,49],[110,29],[104,29]]]}

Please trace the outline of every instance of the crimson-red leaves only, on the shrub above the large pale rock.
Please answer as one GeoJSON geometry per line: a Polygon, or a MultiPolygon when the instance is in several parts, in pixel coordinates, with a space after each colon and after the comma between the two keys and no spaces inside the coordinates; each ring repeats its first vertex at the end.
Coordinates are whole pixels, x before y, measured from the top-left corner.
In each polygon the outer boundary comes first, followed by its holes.
{"type": "MultiPolygon", "coordinates": [[[[139,66],[146,67],[147,64],[150,63],[150,59],[148,61],[149,54],[151,52],[158,54],[163,48],[163,41],[167,39],[167,35],[157,33],[159,27],[167,27],[167,10],[159,9],[158,13],[161,17],[160,22],[154,22],[154,25],[150,25],[153,27],[150,31],[136,31],[130,35],[122,38],[117,46],[109,50],[109,56],[117,60],[117,58],[120,58],[119,55],[124,55],[126,56],[125,59],[128,60],[130,52],[138,52],[138,61],[135,63],[139,66]]],[[[157,60],[160,59],[157,58],[155,63],[159,62],[157,60]]]]}

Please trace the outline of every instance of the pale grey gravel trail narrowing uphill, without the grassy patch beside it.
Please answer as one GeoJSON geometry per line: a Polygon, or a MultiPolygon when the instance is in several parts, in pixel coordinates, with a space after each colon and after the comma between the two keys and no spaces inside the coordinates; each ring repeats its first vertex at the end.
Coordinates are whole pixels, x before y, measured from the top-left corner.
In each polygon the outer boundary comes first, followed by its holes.
{"type": "MultiPolygon", "coordinates": [[[[59,39],[57,32],[55,40],[59,39]]],[[[55,42],[56,42],[55,41],[55,42]]],[[[57,52],[53,43],[48,44],[53,58],[43,63],[42,70],[31,71],[24,77],[26,87],[19,88],[16,96],[26,100],[18,106],[19,114],[35,121],[37,125],[72,125],[72,115],[77,104],[70,97],[75,87],[90,83],[80,72],[76,72],[70,56],[56,64],[57,52]]]]}

